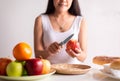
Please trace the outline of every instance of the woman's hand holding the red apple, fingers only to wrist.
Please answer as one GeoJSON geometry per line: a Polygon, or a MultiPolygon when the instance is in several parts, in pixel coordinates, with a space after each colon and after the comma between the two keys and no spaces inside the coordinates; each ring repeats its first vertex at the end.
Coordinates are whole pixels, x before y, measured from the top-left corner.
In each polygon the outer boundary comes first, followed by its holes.
{"type": "Polygon", "coordinates": [[[71,57],[79,57],[81,55],[81,49],[76,48],[75,51],[72,49],[66,49],[66,52],[71,56],[71,57]]]}

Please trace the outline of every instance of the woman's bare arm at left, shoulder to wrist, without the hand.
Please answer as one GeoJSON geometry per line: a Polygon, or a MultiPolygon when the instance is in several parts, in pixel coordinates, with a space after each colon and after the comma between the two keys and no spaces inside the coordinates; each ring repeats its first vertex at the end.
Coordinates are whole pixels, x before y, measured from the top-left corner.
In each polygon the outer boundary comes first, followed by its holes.
{"type": "Polygon", "coordinates": [[[44,49],[43,45],[43,29],[41,16],[35,19],[34,24],[34,52],[36,58],[39,58],[40,56],[42,56],[43,58],[47,58],[49,56],[47,50],[44,49]]]}

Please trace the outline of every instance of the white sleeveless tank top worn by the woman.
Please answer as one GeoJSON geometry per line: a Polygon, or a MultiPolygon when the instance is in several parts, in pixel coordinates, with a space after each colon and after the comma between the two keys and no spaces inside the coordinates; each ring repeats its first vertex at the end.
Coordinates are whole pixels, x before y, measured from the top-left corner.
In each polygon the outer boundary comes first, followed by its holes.
{"type": "MultiPolygon", "coordinates": [[[[51,25],[50,19],[48,15],[41,15],[42,17],[42,25],[43,25],[43,42],[45,48],[47,48],[53,42],[61,42],[69,35],[74,33],[72,39],[78,40],[78,34],[80,31],[80,22],[82,20],[81,16],[76,16],[71,28],[65,32],[58,32],[55,31],[51,25]]],[[[81,63],[76,58],[72,58],[67,54],[65,51],[66,45],[63,46],[61,51],[53,56],[48,57],[47,59],[50,60],[52,64],[56,63],[69,63],[69,64],[78,64],[81,63]]]]}

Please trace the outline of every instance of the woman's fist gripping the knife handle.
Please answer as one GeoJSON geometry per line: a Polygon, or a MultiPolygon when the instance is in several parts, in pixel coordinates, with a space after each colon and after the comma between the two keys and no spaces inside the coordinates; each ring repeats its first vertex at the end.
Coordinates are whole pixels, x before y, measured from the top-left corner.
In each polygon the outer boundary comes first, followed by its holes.
{"type": "Polygon", "coordinates": [[[50,55],[57,54],[58,52],[60,52],[61,48],[62,46],[60,46],[59,43],[54,42],[48,47],[47,51],[50,55]]]}

